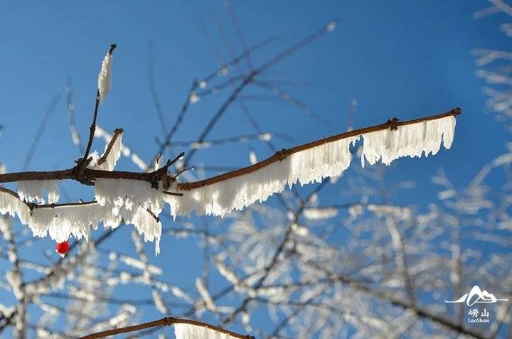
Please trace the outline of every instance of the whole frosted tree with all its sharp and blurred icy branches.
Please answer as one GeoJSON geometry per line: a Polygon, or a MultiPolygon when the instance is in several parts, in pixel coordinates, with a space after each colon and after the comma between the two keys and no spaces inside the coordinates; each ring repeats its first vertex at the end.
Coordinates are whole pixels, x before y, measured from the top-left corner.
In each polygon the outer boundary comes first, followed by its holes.
{"type": "MultiPolygon", "coordinates": [[[[228,12],[238,27],[230,6],[228,12]]],[[[70,131],[80,151],[75,166],[0,174],[0,183],[6,184],[0,187],[0,212],[6,215],[0,220],[0,253],[9,262],[1,287],[13,296],[13,301],[0,304],[0,331],[17,338],[116,333],[166,338],[165,326],[173,325],[176,338],[249,338],[245,333],[262,338],[337,338],[349,333],[356,338],[490,338],[510,328],[508,303],[499,306],[484,332],[464,323],[463,308],[442,300],[458,298],[471,282],[511,296],[506,288],[512,282],[511,255],[506,249],[512,230],[512,155],[484,166],[462,189],[438,173],[438,200],[426,207],[393,203],[392,188],[407,189],[411,183],[386,183],[386,165],[393,160],[437,154],[441,145],[449,149],[459,109],[405,122],[393,118],[279,149],[279,134],[262,129],[243,100],[250,90],[270,93],[318,120],[281,83],[262,75],[335,28],[331,22],[261,63],[255,63],[252,53],[274,39],[246,46],[240,35],[242,53],[193,80],[172,123],[162,114],[150,64],[151,97],[164,137],[149,161],[134,152],[134,145],[123,143],[122,129],[110,134],[99,126],[111,85],[112,45],[102,62],[85,142],[75,125],[73,87],[68,85],[70,131]],[[239,75],[232,75],[234,69],[239,75]],[[194,104],[223,94],[223,103],[201,134],[191,141],[174,140],[194,104]],[[210,139],[210,131],[234,106],[246,114],[254,134],[210,139]],[[105,141],[101,155],[92,151],[95,138],[105,141]],[[225,173],[211,178],[190,171],[198,149],[251,140],[264,142],[272,156],[257,161],[264,156],[251,150],[251,166],[220,169],[225,173]],[[184,153],[178,153],[181,148],[184,153]],[[359,167],[364,168],[349,168],[353,156],[361,158],[359,167]],[[129,158],[140,171],[119,171],[120,157],[129,158]],[[486,178],[500,169],[506,182],[489,188],[486,178]],[[93,200],[61,202],[58,183],[64,180],[92,186],[93,200]],[[309,186],[303,189],[297,183],[309,186]],[[343,189],[346,200],[324,203],[322,191],[329,185],[343,189]],[[263,203],[271,195],[277,204],[263,203]],[[198,217],[189,218],[191,213],[198,217]],[[91,233],[100,224],[104,230],[91,233]],[[125,224],[136,227],[129,244],[135,256],[102,247],[125,224]],[[23,258],[23,247],[47,235],[58,242],[63,257],[50,265],[23,258]],[[203,266],[186,286],[164,276],[146,253],[143,240],[155,242],[158,254],[161,237],[191,238],[201,247],[201,262],[183,262],[203,266]],[[468,240],[503,251],[486,256],[479,247],[469,247],[468,240]],[[116,289],[136,287],[146,291],[146,299],[115,296],[116,289]],[[149,309],[164,318],[142,323],[140,317],[149,309]]]]}

